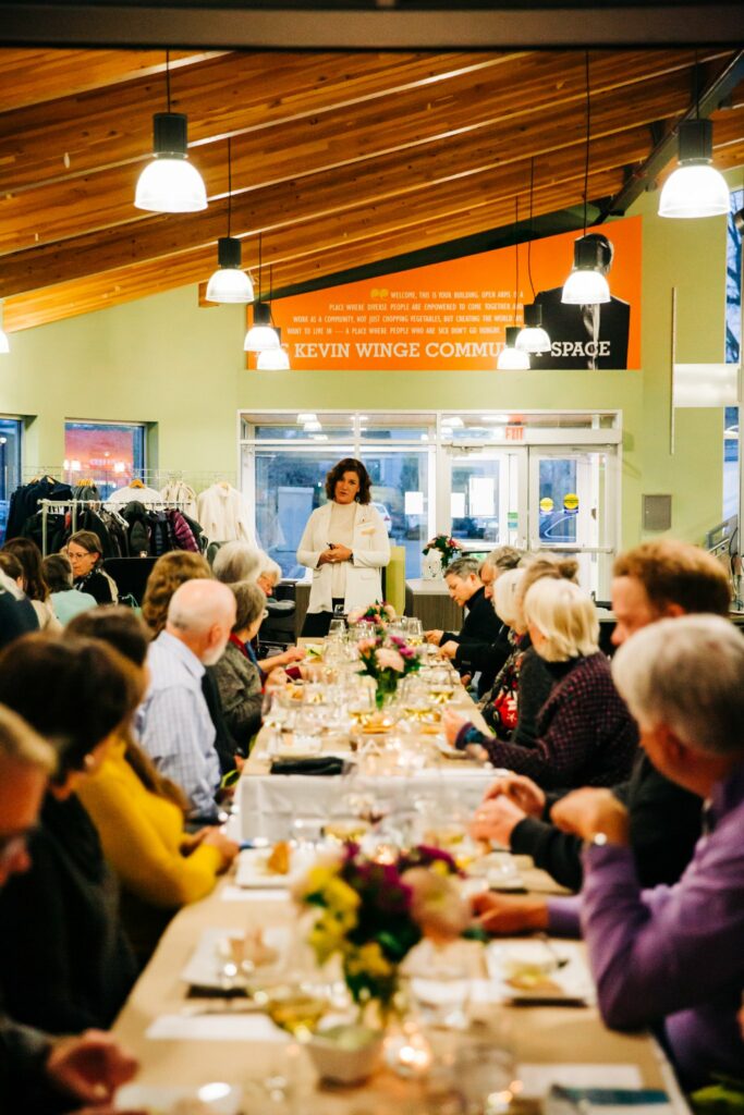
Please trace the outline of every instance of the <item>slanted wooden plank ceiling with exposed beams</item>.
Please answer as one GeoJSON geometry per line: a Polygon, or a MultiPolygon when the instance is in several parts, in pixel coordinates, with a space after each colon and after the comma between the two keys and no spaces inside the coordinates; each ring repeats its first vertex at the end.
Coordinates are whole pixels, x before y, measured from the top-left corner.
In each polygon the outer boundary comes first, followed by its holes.
{"type": "MultiPolygon", "coordinates": [[[[702,87],[732,74],[699,49],[702,87]]],[[[695,52],[592,50],[588,196],[611,209],[690,110],[695,52]]],[[[737,74],[738,70],[734,70],[737,74]]],[[[713,113],[744,164],[744,83],[713,113]]],[[[165,108],[161,50],[0,49],[0,299],[9,332],[203,283],[228,225],[287,291],[526,216],[580,206],[581,51],[171,55],[203,213],[143,214],[135,183],[165,108]]],[[[715,105],[716,101],[714,100],[715,105]]]]}

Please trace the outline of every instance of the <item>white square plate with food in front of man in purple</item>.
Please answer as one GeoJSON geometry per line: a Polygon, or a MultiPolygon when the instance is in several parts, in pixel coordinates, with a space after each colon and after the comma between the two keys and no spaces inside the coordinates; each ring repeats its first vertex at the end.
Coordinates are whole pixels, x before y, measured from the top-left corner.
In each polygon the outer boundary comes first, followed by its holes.
{"type": "Polygon", "coordinates": [[[485,966],[504,1002],[579,1006],[596,1000],[582,947],[573,941],[551,942],[550,949],[534,939],[494,942],[486,946],[485,966]],[[558,967],[557,957],[566,963],[558,967]]]}

